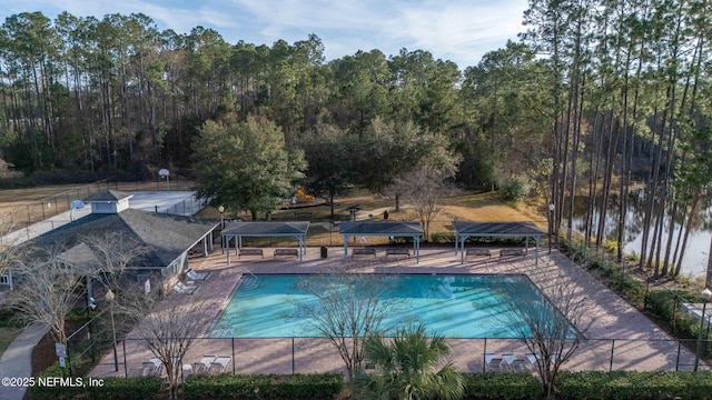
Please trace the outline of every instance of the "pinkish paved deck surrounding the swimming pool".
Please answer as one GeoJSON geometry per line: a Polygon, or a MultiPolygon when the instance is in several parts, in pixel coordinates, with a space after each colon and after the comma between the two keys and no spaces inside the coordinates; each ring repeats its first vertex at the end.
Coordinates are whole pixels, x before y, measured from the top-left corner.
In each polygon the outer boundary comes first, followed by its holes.
{"type": "MultiPolygon", "coordinates": [[[[274,258],[274,249],[265,248],[265,258],[259,256],[230,257],[216,248],[207,258],[192,258],[190,266],[197,271],[211,274],[194,294],[184,294],[186,303],[205,301],[209,303],[205,322],[211,326],[225,308],[244,273],[325,273],[357,271],[363,273],[525,273],[546,292],[546,287],[566,287],[577,299],[586,302],[586,312],[577,328],[589,326],[586,338],[573,358],[564,364],[566,370],[640,370],[674,371],[692,370],[694,353],[642,313],[625,302],[613,291],[596,281],[585,271],[563,257],[556,250],[551,254],[540,251],[535,267],[534,251],[527,256],[498,257],[498,249],[492,249],[493,257],[469,257],[461,263],[454,248],[421,249],[421,259],[415,257],[385,256],[379,250],[377,257],[356,256],[344,258],[344,249],[329,248],[329,257],[320,258],[319,248],[308,248],[304,261],[296,258],[274,258]],[[613,354],[613,357],[612,357],[613,354]]],[[[131,337],[129,333],[128,338],[131,337]]],[[[502,354],[513,352],[524,354],[526,347],[512,339],[449,339],[453,348],[452,361],[462,371],[483,370],[484,353],[502,354]]],[[[236,373],[308,373],[343,372],[343,361],[327,339],[198,339],[184,358],[185,364],[200,360],[204,354],[234,356],[227,372],[236,373]]],[[[115,371],[113,354],[109,352],[91,376],[137,376],[142,363],[151,357],[138,341],[125,340],[118,346],[119,371],[115,371]],[[126,366],[123,360],[126,359],[126,366]]],[[[703,369],[709,369],[702,366],[703,369]]]]}

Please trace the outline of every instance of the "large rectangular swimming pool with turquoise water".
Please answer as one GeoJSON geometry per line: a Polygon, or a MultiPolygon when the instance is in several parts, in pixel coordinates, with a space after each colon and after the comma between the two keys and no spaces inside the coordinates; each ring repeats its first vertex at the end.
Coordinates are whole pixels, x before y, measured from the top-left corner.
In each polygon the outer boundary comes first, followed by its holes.
{"type": "MultiPolygon", "coordinates": [[[[333,281],[339,279],[332,277],[333,281]]],[[[310,312],[323,306],[313,294],[315,284],[327,282],[328,276],[258,274],[243,279],[211,338],[324,337],[315,329],[310,312]]],[[[353,282],[353,276],[349,279],[353,282]]],[[[423,323],[429,332],[447,338],[516,338],[523,330],[528,332],[517,317],[521,306],[547,303],[522,274],[370,274],[358,279],[363,282],[356,283],[356,291],[338,296],[354,296],[382,284],[379,301],[388,306],[380,324],[385,333],[423,323]],[[520,328],[513,326],[517,323],[520,328]]],[[[553,307],[545,309],[558,318],[553,307]]]]}

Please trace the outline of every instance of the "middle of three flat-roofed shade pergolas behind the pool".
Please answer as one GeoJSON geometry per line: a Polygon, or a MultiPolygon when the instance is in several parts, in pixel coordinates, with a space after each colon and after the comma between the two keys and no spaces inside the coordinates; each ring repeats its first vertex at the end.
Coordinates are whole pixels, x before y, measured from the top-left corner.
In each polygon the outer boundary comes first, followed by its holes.
{"type": "Polygon", "coordinates": [[[357,236],[387,236],[413,238],[415,262],[417,263],[419,261],[421,237],[423,236],[421,222],[347,221],[342,222],[339,233],[344,236],[344,258],[348,257],[348,238],[357,236]]]}

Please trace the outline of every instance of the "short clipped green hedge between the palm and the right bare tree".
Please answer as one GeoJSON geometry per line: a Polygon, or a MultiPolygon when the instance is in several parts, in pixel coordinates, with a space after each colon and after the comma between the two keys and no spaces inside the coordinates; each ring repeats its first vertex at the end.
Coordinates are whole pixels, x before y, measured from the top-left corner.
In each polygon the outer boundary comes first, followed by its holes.
{"type": "Polygon", "coordinates": [[[465,376],[464,399],[538,399],[542,383],[531,373],[471,373],[465,376]]]}

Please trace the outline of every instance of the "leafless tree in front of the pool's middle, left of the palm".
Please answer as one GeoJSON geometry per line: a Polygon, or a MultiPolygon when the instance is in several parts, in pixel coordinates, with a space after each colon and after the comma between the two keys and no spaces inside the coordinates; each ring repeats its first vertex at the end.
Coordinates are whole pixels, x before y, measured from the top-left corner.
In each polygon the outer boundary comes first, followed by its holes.
{"type": "Polygon", "coordinates": [[[299,287],[317,301],[300,303],[295,317],[309,318],[314,328],[329,339],[353,379],[364,360],[364,338],[384,330],[383,320],[397,313],[400,300],[383,296],[395,284],[396,277],[356,272],[309,277],[299,287]]]}

